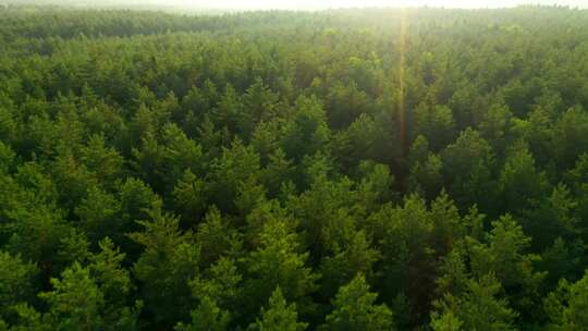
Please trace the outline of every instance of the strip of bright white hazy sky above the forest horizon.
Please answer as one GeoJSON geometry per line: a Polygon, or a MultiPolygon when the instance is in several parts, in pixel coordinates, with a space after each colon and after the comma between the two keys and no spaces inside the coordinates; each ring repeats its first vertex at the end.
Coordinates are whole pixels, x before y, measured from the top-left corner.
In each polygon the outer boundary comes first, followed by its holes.
{"type": "Polygon", "coordinates": [[[343,7],[497,8],[517,4],[562,4],[588,8],[588,0],[170,0],[168,4],[242,9],[318,9],[343,7]]]}

